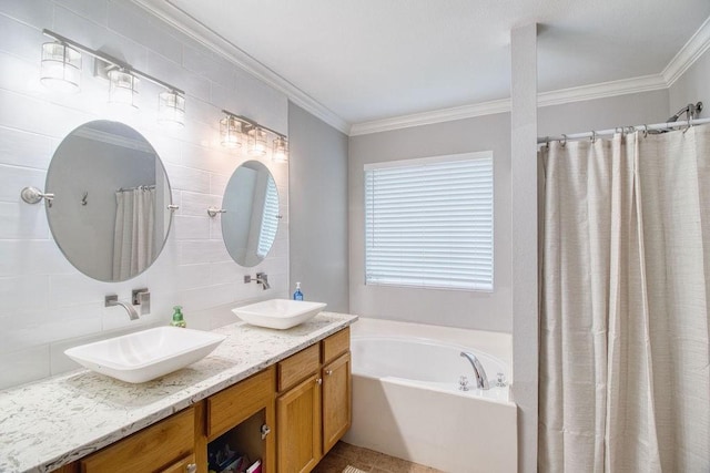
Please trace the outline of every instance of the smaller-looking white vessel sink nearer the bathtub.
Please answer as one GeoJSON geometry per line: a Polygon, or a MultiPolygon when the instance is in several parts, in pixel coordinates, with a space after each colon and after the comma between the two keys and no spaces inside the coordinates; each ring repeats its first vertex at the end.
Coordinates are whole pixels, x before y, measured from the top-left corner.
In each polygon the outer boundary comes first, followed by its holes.
{"type": "Polygon", "coordinates": [[[304,300],[271,299],[237,307],[232,311],[247,323],[285,330],[303,323],[325,309],[326,304],[304,300]]]}

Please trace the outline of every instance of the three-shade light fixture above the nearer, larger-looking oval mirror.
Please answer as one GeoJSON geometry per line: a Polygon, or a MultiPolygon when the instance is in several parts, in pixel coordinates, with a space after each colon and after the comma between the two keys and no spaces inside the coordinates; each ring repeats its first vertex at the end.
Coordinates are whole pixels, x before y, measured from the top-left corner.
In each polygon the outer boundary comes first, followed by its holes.
{"type": "Polygon", "coordinates": [[[75,41],[42,30],[54,42],[42,44],[41,81],[51,89],[79,90],[81,53],[94,58],[97,75],[109,79],[109,102],[138,107],[135,97],[140,80],[146,80],[165,89],[159,95],[158,121],[161,124],[183,125],[185,122],[185,93],[160,79],[134,69],[130,64],[103,52],[87,48],[75,41]]]}

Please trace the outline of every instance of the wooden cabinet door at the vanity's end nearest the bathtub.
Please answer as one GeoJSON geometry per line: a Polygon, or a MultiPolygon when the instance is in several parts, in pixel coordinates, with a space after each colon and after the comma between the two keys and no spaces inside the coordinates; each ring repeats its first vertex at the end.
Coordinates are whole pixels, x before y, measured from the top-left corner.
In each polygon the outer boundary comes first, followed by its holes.
{"type": "Polygon", "coordinates": [[[351,428],[352,393],[351,353],[345,353],[323,368],[323,454],[351,428]]]}

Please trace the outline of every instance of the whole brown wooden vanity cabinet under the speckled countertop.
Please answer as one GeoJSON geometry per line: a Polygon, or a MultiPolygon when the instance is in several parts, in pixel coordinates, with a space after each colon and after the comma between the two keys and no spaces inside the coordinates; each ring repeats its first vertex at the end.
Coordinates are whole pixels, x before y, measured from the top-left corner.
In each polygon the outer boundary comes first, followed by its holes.
{"type": "Polygon", "coordinates": [[[351,426],[349,328],[60,467],[61,473],[206,473],[225,442],[263,473],[310,472],[351,426]]]}

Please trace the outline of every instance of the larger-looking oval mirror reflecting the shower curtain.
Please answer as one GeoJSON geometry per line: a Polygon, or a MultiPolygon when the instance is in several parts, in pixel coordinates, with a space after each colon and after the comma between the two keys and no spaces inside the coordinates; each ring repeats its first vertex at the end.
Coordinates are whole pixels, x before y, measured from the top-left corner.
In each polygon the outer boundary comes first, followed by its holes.
{"type": "Polygon", "coordinates": [[[165,168],[135,130],[89,122],[60,143],[47,172],[49,226],[69,261],[101,281],[148,269],[163,249],[172,219],[165,168]]]}

